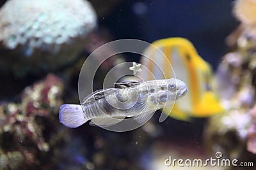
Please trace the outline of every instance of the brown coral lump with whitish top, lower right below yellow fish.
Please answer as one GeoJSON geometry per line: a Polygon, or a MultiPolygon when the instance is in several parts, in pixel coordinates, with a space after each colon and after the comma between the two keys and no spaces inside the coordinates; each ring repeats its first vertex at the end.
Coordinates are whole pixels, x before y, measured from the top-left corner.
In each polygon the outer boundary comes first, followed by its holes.
{"type": "MultiPolygon", "coordinates": [[[[209,120],[205,134],[207,145],[213,153],[222,152],[226,157],[237,156],[246,143],[247,129],[251,117],[246,110],[229,110],[223,115],[216,115],[209,120]]],[[[232,159],[237,157],[232,157],[232,159]]]]}

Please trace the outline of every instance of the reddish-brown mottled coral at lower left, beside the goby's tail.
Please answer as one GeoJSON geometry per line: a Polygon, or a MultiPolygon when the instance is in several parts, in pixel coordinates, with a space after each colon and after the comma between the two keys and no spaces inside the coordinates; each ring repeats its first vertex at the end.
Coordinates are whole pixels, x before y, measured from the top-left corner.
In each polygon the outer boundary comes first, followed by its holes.
{"type": "Polygon", "coordinates": [[[20,103],[0,104],[0,165],[3,169],[32,168],[54,156],[54,148],[63,140],[57,123],[62,93],[60,78],[49,74],[45,80],[27,87],[20,103]]]}

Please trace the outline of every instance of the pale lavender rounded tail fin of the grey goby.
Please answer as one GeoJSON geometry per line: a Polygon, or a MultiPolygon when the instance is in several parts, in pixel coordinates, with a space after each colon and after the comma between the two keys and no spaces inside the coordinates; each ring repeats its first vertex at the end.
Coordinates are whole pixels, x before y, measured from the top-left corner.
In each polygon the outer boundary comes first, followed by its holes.
{"type": "Polygon", "coordinates": [[[86,120],[82,106],[79,104],[62,104],[59,111],[60,123],[69,128],[83,125],[86,120]]]}

